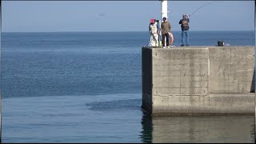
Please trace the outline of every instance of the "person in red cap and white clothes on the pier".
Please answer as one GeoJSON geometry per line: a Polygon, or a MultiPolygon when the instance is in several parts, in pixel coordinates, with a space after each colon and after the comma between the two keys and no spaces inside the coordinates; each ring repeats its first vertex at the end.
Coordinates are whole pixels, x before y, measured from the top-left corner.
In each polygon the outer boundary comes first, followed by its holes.
{"type": "Polygon", "coordinates": [[[159,25],[158,22],[155,22],[155,19],[150,19],[150,26],[149,26],[149,32],[150,32],[150,46],[158,46],[158,30],[159,25]]]}

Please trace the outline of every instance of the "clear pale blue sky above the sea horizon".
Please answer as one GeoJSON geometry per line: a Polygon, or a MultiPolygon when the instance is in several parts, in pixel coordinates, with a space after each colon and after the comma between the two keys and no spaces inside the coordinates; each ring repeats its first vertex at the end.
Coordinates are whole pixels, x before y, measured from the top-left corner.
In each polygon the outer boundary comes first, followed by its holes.
{"type": "MultiPolygon", "coordinates": [[[[172,30],[182,14],[210,1],[168,1],[172,30]]],[[[254,30],[254,1],[212,1],[190,18],[190,30],[254,30]]],[[[159,1],[3,1],[3,32],[147,31],[161,18],[159,1]]]]}

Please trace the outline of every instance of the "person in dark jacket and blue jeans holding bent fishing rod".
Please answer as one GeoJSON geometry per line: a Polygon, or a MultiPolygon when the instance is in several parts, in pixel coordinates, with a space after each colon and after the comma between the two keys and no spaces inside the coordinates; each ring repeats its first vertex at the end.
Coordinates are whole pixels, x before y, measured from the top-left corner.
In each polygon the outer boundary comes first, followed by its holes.
{"type": "Polygon", "coordinates": [[[183,14],[182,19],[179,21],[179,24],[182,24],[182,46],[189,46],[189,26],[190,18],[188,15],[183,14]],[[186,42],[186,43],[185,43],[186,42]]]}

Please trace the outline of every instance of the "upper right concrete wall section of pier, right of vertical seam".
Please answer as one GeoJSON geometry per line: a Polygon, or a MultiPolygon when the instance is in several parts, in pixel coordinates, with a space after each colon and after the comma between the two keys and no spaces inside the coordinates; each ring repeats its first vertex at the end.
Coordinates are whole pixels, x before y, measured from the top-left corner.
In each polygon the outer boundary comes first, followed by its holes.
{"type": "Polygon", "coordinates": [[[254,75],[254,47],[209,48],[210,93],[250,93],[254,75]]]}

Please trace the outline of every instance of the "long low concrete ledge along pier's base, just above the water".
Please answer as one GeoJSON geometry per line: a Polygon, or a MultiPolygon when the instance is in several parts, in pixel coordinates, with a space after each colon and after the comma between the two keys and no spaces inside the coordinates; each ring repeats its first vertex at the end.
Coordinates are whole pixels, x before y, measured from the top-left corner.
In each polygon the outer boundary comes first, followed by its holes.
{"type": "Polygon", "coordinates": [[[153,115],[255,114],[254,94],[154,96],[153,102],[153,115]]]}

